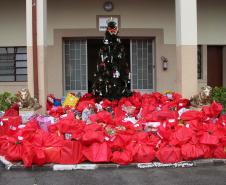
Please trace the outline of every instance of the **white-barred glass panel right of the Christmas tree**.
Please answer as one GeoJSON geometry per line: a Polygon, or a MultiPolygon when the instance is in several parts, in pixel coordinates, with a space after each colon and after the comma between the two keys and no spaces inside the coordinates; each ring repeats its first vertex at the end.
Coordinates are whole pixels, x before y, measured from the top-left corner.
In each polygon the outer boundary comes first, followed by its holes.
{"type": "Polygon", "coordinates": [[[132,89],[153,90],[153,41],[131,40],[132,89]]]}

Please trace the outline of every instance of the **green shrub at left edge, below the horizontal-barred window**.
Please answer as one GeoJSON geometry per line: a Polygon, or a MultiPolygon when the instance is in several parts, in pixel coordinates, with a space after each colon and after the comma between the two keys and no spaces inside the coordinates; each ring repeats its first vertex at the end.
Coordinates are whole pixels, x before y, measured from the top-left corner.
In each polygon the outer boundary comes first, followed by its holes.
{"type": "Polygon", "coordinates": [[[4,92],[0,94],[0,111],[7,110],[16,101],[17,101],[16,96],[12,95],[9,92],[4,92]]]}

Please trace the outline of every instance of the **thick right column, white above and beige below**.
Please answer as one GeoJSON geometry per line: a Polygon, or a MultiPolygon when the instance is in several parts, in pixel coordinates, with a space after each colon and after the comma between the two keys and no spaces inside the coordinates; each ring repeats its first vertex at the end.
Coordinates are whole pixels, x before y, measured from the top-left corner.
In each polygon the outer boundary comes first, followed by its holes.
{"type": "Polygon", "coordinates": [[[177,90],[190,98],[197,93],[197,1],[175,0],[177,90]]]}

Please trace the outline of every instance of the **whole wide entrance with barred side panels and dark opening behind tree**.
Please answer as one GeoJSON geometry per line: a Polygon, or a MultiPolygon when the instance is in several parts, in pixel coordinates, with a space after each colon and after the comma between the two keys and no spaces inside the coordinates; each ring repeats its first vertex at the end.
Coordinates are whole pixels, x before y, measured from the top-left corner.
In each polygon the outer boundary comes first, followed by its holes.
{"type": "MultiPolygon", "coordinates": [[[[64,94],[92,92],[102,41],[103,38],[64,39],[64,94]]],[[[121,41],[131,72],[131,90],[154,91],[154,39],[123,38],[121,41]]]]}

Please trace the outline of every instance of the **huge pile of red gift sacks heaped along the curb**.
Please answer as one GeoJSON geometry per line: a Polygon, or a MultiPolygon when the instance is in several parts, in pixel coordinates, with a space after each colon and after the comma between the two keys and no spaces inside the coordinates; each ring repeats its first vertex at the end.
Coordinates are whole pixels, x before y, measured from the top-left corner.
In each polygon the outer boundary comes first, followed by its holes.
{"type": "Polygon", "coordinates": [[[119,101],[98,102],[101,110],[95,103],[96,99],[87,94],[73,110],[50,110],[58,121],[48,132],[35,119],[22,125],[17,111],[6,112],[0,119],[0,155],[23,161],[26,167],[84,161],[126,165],[226,158],[226,115],[220,116],[222,106],[218,103],[201,111],[189,110],[185,109],[189,101],[177,93],[134,93],[119,101]],[[74,113],[87,107],[96,112],[89,116],[89,122],[74,113]]]}

